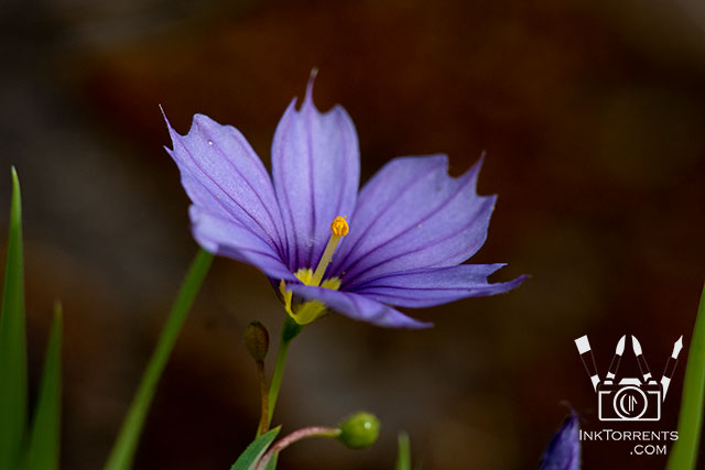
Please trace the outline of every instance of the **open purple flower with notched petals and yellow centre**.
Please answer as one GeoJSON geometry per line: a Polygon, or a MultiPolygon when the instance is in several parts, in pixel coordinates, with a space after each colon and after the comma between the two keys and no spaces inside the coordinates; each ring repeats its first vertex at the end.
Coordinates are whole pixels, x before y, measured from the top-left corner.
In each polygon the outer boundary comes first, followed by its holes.
{"type": "Polygon", "coordinates": [[[174,149],[166,151],[204,249],[267,274],[301,325],[330,308],[423,328],[431,324],[390,305],[429,307],[521,284],[523,276],[487,282],[503,264],[460,264],[485,242],[495,207],[496,196],[475,192],[481,162],[452,178],[445,155],[394,159],[358,193],[355,125],[339,106],[318,112],[313,78],[301,109],[292,100],[276,128],[273,182],[237,129],[196,114],[180,135],[167,122],[174,149]]]}

